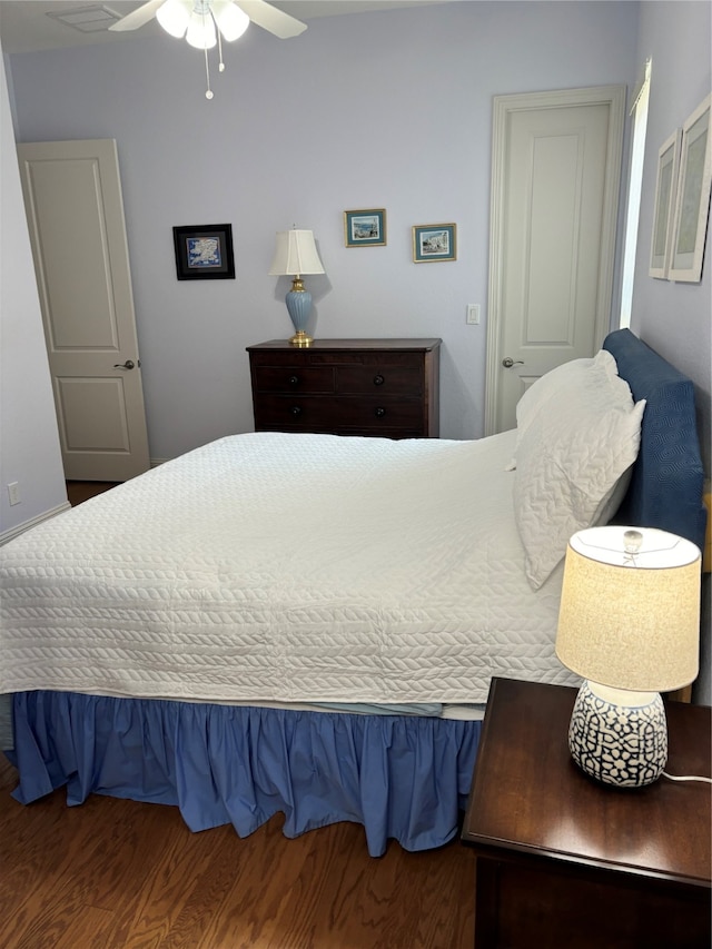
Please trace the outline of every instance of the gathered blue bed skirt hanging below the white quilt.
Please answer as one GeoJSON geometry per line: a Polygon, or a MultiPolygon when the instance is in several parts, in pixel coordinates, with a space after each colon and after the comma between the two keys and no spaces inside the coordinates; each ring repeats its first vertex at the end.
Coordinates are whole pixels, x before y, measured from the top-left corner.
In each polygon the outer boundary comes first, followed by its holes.
{"type": "Polygon", "coordinates": [[[14,695],[13,797],[29,803],[63,784],[88,794],[175,804],[192,831],[231,823],[246,837],[285,814],[297,837],[362,823],[372,857],[457,832],[481,722],[112,699],[14,695]]]}

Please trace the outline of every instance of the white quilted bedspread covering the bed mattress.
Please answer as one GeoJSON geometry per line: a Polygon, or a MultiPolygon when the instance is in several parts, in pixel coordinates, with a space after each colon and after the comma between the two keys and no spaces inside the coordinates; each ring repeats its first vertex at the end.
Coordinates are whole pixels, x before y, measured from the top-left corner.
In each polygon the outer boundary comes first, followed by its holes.
{"type": "Polygon", "coordinates": [[[576,681],[513,518],[514,433],[222,438],[0,548],[0,692],[483,702],[576,681]]]}

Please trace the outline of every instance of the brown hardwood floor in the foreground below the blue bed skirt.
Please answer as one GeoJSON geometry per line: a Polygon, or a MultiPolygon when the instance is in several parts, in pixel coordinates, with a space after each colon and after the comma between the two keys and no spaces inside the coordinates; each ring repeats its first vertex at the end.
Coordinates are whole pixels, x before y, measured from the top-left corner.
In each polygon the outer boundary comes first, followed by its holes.
{"type": "Polygon", "coordinates": [[[0,755],[3,949],[465,949],[474,856],[458,840],[368,857],[363,828],[296,840],[276,815],[240,840],[191,833],[177,808],[58,790],[10,798],[0,755]]]}

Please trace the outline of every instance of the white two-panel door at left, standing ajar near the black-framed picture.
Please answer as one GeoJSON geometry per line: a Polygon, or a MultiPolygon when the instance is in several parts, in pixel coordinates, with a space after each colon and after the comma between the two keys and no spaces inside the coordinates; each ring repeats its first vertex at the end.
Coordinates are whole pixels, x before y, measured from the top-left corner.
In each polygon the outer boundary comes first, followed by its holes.
{"type": "Polygon", "coordinates": [[[149,467],[116,142],[18,146],[65,476],[149,467]]]}

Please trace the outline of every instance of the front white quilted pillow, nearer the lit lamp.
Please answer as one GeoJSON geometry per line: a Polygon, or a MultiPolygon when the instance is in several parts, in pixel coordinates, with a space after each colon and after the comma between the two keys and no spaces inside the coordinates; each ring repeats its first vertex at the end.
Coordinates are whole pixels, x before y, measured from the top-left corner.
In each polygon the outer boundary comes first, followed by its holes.
{"type": "Polygon", "coordinates": [[[574,362],[589,365],[568,363],[568,370],[554,370],[558,380],[547,378],[553,373],[537,380],[546,379],[542,397],[525,406],[517,435],[514,512],[534,590],[562,560],[571,535],[607,516],[640,447],[645,401],[633,405],[613,357],[574,362]]]}

